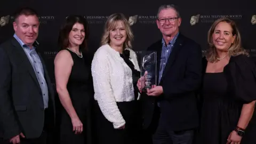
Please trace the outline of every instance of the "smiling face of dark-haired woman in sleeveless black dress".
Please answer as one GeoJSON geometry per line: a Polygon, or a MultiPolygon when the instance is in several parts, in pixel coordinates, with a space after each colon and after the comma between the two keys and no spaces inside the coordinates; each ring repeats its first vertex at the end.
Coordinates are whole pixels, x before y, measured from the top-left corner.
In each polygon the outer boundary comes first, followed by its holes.
{"type": "Polygon", "coordinates": [[[69,33],[69,45],[70,46],[77,46],[81,45],[84,41],[85,37],[85,29],[84,25],[81,23],[75,23],[73,28],[71,29],[69,33]]]}

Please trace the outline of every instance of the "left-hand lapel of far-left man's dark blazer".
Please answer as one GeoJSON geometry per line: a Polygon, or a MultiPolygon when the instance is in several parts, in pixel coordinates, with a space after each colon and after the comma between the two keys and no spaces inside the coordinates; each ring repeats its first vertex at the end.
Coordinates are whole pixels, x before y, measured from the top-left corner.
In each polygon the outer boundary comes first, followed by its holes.
{"type": "Polygon", "coordinates": [[[30,63],[25,51],[23,50],[23,48],[21,47],[21,45],[15,38],[12,39],[12,44],[13,44],[13,46],[15,46],[17,48],[17,49],[14,49],[13,54],[16,55],[16,58],[18,59],[18,61],[20,61],[20,64],[21,65],[23,64],[22,67],[24,69],[28,70],[30,76],[34,79],[34,82],[37,85],[38,89],[41,91],[40,85],[36,78],[35,71],[34,71],[33,67],[31,66],[31,63],[30,63]]]}

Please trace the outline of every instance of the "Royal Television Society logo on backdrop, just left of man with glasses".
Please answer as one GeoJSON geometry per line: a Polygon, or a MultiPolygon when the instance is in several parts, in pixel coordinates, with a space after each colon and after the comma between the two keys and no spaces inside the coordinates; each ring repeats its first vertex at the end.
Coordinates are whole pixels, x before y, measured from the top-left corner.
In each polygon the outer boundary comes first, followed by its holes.
{"type": "Polygon", "coordinates": [[[130,26],[134,25],[137,22],[141,24],[155,24],[156,19],[156,15],[133,15],[129,17],[128,22],[130,26]]]}

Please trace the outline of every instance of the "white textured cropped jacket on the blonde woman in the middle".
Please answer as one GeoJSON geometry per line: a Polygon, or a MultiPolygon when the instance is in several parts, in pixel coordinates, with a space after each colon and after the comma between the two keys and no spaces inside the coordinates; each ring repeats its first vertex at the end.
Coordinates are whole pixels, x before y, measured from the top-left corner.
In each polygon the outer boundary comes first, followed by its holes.
{"type": "MultiPolygon", "coordinates": [[[[130,60],[135,69],[140,71],[137,55],[131,49],[130,60]]],[[[94,99],[98,101],[103,115],[117,129],[125,124],[116,102],[134,100],[132,83],[132,70],[119,52],[108,44],[102,45],[95,52],[92,61],[92,77],[94,86],[94,99]]]]}

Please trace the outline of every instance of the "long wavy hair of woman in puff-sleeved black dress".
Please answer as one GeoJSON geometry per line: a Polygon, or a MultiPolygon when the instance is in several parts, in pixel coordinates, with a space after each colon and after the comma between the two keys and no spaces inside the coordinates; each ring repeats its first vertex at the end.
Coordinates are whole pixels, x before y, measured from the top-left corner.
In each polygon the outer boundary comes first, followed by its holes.
{"type": "Polygon", "coordinates": [[[239,33],[239,30],[236,26],[235,21],[230,20],[229,18],[223,17],[223,18],[220,18],[220,19],[214,21],[210,30],[208,31],[207,41],[208,41],[208,44],[209,44],[209,49],[207,50],[207,53],[206,53],[206,59],[209,62],[218,61],[216,47],[214,46],[213,41],[212,41],[212,34],[214,33],[214,30],[215,30],[216,26],[220,22],[229,23],[229,25],[232,28],[232,35],[236,36],[235,40],[234,40],[234,43],[231,44],[231,46],[227,50],[229,56],[236,56],[236,55],[240,55],[240,54],[245,54],[245,55],[249,56],[249,53],[246,50],[244,50],[242,45],[241,45],[241,35],[239,33]]]}

